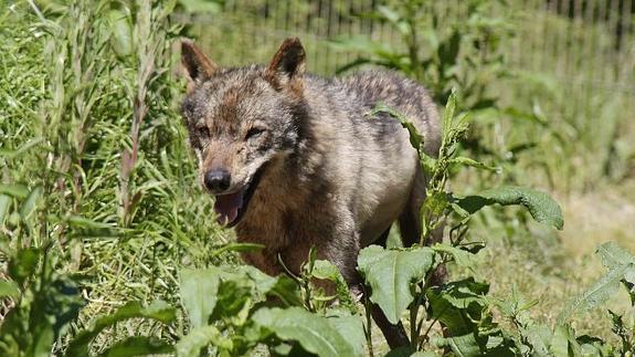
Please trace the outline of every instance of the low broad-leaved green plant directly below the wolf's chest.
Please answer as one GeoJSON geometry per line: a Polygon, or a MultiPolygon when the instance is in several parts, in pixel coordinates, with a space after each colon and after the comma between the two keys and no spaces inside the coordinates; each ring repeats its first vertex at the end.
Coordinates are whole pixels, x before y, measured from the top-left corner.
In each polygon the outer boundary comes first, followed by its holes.
{"type": "MultiPolygon", "coordinates": [[[[334,265],[309,258],[305,265],[334,265]]],[[[317,273],[337,283],[341,275],[317,273]]],[[[252,266],[186,270],[181,275],[181,296],[191,321],[191,332],[176,344],[179,356],[192,356],[208,345],[220,356],[243,355],[265,343],[276,355],[294,355],[304,350],[319,356],[359,356],[364,336],[361,318],[346,309],[324,307],[322,295],[307,297],[314,290],[310,279],[268,276],[252,266]],[[272,298],[275,298],[272,301],[272,298]],[[278,307],[271,307],[271,304],[278,307]],[[281,308],[282,307],[282,308],[281,308]],[[342,334],[346,333],[346,335],[342,334]]]]}

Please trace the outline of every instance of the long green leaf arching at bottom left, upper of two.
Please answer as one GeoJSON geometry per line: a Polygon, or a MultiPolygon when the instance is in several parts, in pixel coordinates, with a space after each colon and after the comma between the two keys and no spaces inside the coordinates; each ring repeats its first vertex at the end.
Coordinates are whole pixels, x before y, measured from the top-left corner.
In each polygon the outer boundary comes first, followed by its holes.
{"type": "Polygon", "coordinates": [[[117,308],[115,313],[95,319],[88,328],[80,332],[71,340],[66,356],[88,355],[88,345],[104,328],[110,327],[120,321],[135,317],[151,318],[168,324],[173,322],[177,315],[176,309],[162,301],[156,301],[148,307],[144,307],[139,302],[127,303],[117,308]]]}

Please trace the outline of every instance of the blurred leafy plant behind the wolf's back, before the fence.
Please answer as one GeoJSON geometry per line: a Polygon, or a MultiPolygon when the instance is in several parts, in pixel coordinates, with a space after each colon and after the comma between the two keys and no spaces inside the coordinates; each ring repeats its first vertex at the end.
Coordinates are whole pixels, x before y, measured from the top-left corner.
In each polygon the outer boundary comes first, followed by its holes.
{"type": "Polygon", "coordinates": [[[367,38],[336,38],[336,49],[356,50],[360,57],[338,72],[373,64],[398,70],[430,86],[436,103],[447,103],[452,88],[462,88],[462,108],[476,112],[497,108],[488,85],[506,75],[501,40],[511,34],[504,18],[491,8],[504,1],[469,0],[462,4],[435,4],[427,0],[388,1],[366,14],[388,23],[400,35],[396,44],[367,38]],[[448,23],[442,17],[459,7],[465,19],[448,23]],[[478,74],[477,74],[478,72],[478,74]]]}

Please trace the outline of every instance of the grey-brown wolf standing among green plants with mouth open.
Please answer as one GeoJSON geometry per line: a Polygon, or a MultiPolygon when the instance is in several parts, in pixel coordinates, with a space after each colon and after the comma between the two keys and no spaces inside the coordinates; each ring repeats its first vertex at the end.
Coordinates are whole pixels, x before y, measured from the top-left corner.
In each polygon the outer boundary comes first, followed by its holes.
{"type": "MultiPolygon", "coordinates": [[[[290,38],[266,66],[221,67],[183,40],[182,117],[218,219],[240,242],[264,245],[244,253],[246,263],[298,274],[315,248],[359,292],[361,248],[385,243],[395,221],[405,245],[419,241],[426,183],[408,132],[369,113],[380,102],[401,112],[431,156],[440,117],[412,80],[379,70],[326,78],[305,73],[305,60],[290,38]]],[[[391,346],[408,343],[402,326],[377,306],[372,314],[391,346]]]]}

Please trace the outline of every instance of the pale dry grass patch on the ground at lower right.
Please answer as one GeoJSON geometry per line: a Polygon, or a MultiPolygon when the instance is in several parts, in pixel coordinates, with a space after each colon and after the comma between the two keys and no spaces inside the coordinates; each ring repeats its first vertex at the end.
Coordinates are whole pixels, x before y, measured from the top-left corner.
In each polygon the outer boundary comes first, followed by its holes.
{"type": "MultiPolygon", "coordinates": [[[[490,282],[491,295],[498,298],[509,296],[516,285],[527,298],[538,301],[531,316],[553,326],[565,303],[605,273],[594,256],[600,244],[615,241],[635,252],[634,185],[560,198],[565,217],[562,232],[530,225],[528,237],[509,238],[500,230],[476,228],[475,234],[489,242],[480,253],[478,276],[490,282]]],[[[626,292],[621,291],[602,307],[578,314],[572,321],[578,334],[613,338],[607,308],[628,312],[626,292]]]]}

